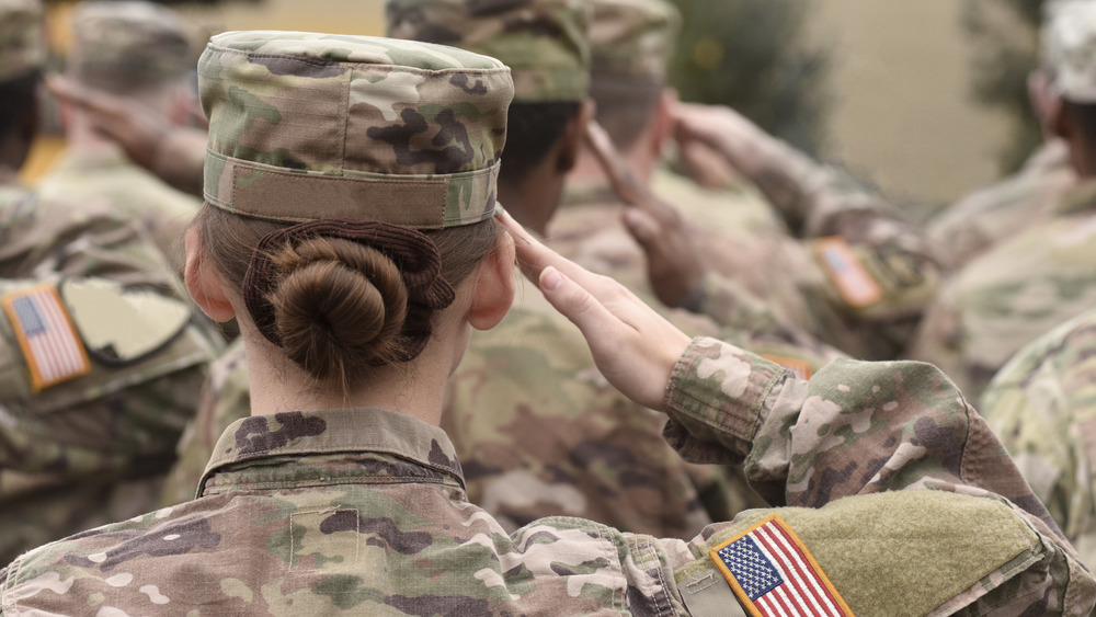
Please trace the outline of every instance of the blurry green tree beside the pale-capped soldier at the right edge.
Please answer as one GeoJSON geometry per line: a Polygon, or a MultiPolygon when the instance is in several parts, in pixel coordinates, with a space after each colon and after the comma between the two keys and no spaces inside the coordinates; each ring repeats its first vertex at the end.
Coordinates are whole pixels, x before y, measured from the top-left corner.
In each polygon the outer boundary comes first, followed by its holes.
{"type": "Polygon", "coordinates": [[[963,27],[974,61],[974,99],[1008,114],[1013,135],[998,153],[1003,173],[1015,171],[1042,141],[1028,101],[1027,77],[1039,61],[1043,0],[964,0],[963,27]]]}

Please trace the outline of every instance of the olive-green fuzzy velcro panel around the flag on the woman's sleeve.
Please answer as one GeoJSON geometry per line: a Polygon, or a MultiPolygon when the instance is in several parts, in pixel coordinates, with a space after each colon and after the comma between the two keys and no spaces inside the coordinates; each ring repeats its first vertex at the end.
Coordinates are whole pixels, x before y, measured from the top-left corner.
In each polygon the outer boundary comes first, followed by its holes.
{"type": "MultiPolygon", "coordinates": [[[[969,604],[993,589],[982,589],[987,578],[1000,585],[1043,551],[1039,536],[1006,504],[932,490],[856,495],[818,510],[745,511],[705,550],[773,514],[795,529],[850,612],[861,616],[925,615],[945,603],[969,604]]],[[[730,605],[750,614],[708,556],[680,568],[675,579],[694,615],[734,614],[730,605]]]]}

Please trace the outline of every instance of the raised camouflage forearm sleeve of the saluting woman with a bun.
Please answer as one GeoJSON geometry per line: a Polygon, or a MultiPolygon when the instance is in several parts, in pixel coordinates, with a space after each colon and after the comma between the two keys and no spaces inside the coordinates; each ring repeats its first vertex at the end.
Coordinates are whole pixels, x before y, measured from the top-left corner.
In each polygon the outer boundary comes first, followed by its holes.
{"type": "Polygon", "coordinates": [[[837,359],[810,380],[696,339],[666,391],[665,436],[697,462],[741,462],[774,505],[863,493],[995,493],[1060,535],[985,421],[936,367],[837,359]]]}

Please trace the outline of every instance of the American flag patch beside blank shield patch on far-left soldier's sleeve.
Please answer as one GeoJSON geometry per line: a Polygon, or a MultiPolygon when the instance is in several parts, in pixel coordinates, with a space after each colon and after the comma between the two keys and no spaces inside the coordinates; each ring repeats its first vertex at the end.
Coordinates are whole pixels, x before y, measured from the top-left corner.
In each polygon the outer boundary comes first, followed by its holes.
{"type": "Polygon", "coordinates": [[[35,392],[91,372],[88,353],[54,285],[8,294],[2,302],[35,392]]]}

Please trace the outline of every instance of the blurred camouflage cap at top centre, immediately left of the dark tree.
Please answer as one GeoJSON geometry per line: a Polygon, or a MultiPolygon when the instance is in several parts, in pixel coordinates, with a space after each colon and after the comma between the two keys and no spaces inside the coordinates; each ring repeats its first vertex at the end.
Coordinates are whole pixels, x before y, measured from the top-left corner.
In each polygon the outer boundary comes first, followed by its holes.
{"type": "Polygon", "coordinates": [[[663,0],[591,0],[590,54],[594,79],[615,76],[662,84],[681,13],[663,0]]]}

